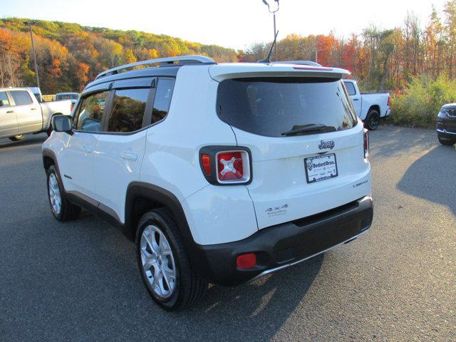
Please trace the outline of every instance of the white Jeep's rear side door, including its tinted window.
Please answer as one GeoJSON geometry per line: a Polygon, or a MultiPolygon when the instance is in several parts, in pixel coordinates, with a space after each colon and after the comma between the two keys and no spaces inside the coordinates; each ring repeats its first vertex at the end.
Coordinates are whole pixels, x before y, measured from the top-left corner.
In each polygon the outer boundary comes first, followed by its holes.
{"type": "Polygon", "coordinates": [[[140,168],[152,113],[153,78],[113,83],[103,132],[95,146],[95,199],[100,210],[125,222],[125,196],[140,168]],[[148,123],[147,123],[148,120],[148,123]]]}

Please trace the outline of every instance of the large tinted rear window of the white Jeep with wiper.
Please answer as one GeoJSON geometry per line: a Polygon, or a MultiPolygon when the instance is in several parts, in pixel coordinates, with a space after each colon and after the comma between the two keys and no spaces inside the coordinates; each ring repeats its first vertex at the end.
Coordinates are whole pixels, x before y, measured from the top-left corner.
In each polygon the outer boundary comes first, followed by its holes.
{"type": "Polygon", "coordinates": [[[357,119],[342,81],[333,78],[234,78],[217,90],[217,113],[249,133],[282,137],[306,125],[347,130],[357,119]]]}

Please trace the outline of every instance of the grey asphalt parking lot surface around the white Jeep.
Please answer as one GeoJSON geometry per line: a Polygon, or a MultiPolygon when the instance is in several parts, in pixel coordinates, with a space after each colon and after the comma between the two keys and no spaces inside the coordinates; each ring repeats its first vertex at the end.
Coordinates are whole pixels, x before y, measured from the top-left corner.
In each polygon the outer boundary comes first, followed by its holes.
{"type": "Polygon", "coordinates": [[[0,341],[456,341],[456,149],[432,130],[371,133],[368,234],[177,314],[117,229],[53,219],[45,138],[0,140],[0,341]]]}

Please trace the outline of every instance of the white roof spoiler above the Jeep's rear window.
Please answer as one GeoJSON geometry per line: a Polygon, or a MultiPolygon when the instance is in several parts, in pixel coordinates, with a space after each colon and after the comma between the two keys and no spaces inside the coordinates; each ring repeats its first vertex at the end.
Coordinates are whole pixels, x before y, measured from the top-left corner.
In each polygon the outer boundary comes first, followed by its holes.
{"type": "Polygon", "coordinates": [[[226,63],[210,66],[209,75],[217,82],[248,77],[324,77],[341,80],[350,76],[350,71],[303,64],[226,63]]]}

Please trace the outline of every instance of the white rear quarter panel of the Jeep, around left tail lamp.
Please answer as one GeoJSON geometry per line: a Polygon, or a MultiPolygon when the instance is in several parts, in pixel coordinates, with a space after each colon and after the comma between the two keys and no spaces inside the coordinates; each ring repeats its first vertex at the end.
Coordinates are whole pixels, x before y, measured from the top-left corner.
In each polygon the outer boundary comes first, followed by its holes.
{"type": "Polygon", "coordinates": [[[141,182],[179,199],[198,244],[237,241],[258,229],[246,187],[209,185],[199,165],[201,147],[237,145],[217,116],[217,86],[207,66],[180,68],[167,118],[147,130],[140,173],[141,182]]]}

